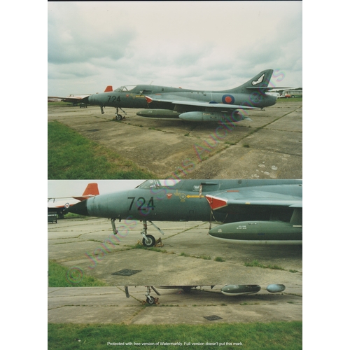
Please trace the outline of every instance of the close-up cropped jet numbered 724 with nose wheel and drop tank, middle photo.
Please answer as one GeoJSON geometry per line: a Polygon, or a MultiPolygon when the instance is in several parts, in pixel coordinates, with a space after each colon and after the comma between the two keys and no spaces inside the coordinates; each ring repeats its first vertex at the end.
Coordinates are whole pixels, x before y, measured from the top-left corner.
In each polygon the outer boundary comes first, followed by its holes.
{"type": "MultiPolygon", "coordinates": [[[[98,195],[69,211],[144,224],[144,246],[154,246],[147,221],[208,221],[209,235],[236,243],[302,244],[302,180],[147,180],[132,190],[98,195]],[[211,222],[221,223],[211,228],[211,222]]],[[[128,226],[129,225],[129,226],[128,226]]]]}

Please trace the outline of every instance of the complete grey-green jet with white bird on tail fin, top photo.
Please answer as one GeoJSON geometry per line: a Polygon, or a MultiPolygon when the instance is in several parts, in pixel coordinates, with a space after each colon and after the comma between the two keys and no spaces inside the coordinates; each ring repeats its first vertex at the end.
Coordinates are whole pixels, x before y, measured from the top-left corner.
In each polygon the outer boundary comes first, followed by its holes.
{"type": "MultiPolygon", "coordinates": [[[[188,90],[156,85],[121,86],[114,91],[92,94],[89,104],[116,108],[116,119],[122,120],[119,109],[144,109],[138,116],[182,119],[195,122],[220,122],[249,119],[246,110],[263,109],[276,103],[277,97],[267,91],[273,70],[267,69],[239,87],[223,91],[188,90]],[[240,113],[241,111],[241,113],[240,113]]],[[[109,88],[109,87],[107,87],[109,88]]],[[[110,89],[111,90],[111,89],[110,89]]],[[[124,111],[123,111],[124,112],[124,111]]],[[[125,112],[124,112],[125,113],[125,112]]]]}

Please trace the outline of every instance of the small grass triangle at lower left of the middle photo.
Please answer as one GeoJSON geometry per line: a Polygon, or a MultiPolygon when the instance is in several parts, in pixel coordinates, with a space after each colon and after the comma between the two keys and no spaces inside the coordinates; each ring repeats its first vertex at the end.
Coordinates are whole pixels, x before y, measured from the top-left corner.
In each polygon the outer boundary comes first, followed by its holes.
{"type": "Polygon", "coordinates": [[[108,286],[92,276],[85,276],[81,269],[69,269],[57,262],[48,262],[48,286],[49,287],[101,287],[108,286]],[[78,281],[78,283],[75,283],[78,281]]]}

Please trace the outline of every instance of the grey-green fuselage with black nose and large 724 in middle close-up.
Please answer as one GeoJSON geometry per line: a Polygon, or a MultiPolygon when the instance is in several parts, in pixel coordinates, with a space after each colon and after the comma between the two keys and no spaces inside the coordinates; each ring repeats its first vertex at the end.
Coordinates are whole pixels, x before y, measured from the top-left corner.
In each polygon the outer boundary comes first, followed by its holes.
{"type": "MultiPolygon", "coordinates": [[[[132,190],[92,197],[71,210],[77,214],[104,218],[137,219],[140,221],[209,221],[211,208],[205,195],[225,193],[227,190],[266,190],[301,197],[301,181],[298,180],[169,180],[169,186],[153,186],[149,180],[132,190]],[[79,209],[81,208],[81,209],[79,209]],[[80,211],[80,212],[78,212],[80,211]]],[[[165,184],[165,183],[163,183],[165,184]]],[[[269,220],[271,207],[246,204],[234,211],[221,209],[214,212],[214,219],[223,223],[269,220]]],[[[289,220],[292,209],[279,209],[280,220],[289,220]]]]}

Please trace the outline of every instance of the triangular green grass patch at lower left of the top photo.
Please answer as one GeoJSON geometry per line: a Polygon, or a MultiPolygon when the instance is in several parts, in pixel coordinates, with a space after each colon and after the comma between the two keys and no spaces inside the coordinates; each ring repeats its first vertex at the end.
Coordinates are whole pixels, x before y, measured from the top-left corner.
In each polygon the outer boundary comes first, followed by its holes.
{"type": "Polygon", "coordinates": [[[154,179],[155,175],[66,125],[48,123],[48,179],[154,179]]]}

